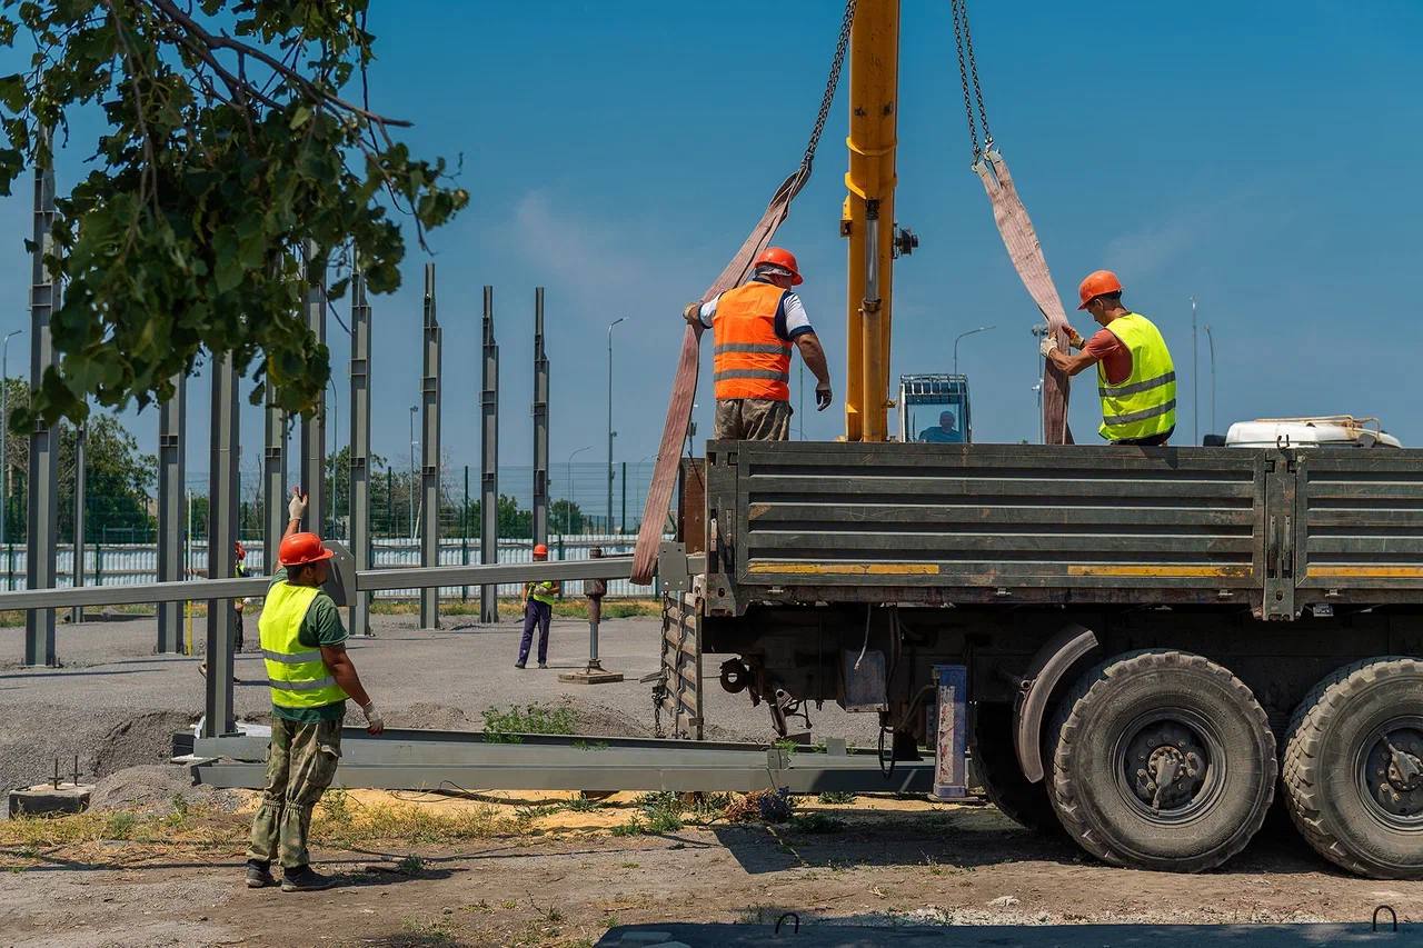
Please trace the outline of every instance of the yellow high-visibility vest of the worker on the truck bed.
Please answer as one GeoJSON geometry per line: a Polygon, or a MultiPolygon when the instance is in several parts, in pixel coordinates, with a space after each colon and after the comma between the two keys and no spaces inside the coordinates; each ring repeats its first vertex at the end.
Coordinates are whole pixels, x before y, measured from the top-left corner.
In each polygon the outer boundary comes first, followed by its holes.
{"type": "Polygon", "coordinates": [[[1161,332],[1141,313],[1118,316],[1107,330],[1131,353],[1131,374],[1113,384],[1106,363],[1097,363],[1101,437],[1121,441],[1165,434],[1175,427],[1175,364],[1161,332]]]}

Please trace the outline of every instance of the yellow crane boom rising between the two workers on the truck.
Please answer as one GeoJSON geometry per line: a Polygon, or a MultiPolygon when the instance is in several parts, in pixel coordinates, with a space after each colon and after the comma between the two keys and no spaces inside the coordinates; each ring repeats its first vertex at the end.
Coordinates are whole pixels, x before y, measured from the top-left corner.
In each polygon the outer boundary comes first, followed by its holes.
{"type": "Polygon", "coordinates": [[[847,441],[889,434],[898,97],[899,0],[859,0],[850,34],[850,171],[840,225],[850,238],[847,441]]]}

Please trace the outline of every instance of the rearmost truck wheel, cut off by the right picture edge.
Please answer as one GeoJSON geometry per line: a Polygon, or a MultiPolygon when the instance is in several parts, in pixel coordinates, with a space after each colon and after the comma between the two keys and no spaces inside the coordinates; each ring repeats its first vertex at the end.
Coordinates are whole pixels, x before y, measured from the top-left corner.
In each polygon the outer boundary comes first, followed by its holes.
{"type": "Polygon", "coordinates": [[[1295,712],[1285,801],[1321,855],[1370,878],[1423,878],[1423,662],[1339,669],[1295,712]]]}

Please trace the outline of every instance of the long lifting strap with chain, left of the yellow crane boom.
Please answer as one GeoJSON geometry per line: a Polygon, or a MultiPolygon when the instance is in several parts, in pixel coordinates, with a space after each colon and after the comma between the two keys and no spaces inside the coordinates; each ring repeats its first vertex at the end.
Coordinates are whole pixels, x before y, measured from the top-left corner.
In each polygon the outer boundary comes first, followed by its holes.
{"type": "MultiPolygon", "coordinates": [[[[815,151],[820,147],[820,137],[825,131],[825,121],[830,117],[831,102],[835,100],[835,88],[840,85],[840,73],[845,64],[845,50],[850,47],[850,30],[855,23],[857,0],[845,1],[845,14],[840,23],[840,38],[835,44],[835,57],[830,65],[830,78],[825,81],[825,93],[820,100],[820,112],[811,130],[810,141],[805,144],[805,154],[797,168],[771,195],[771,202],[766,206],[761,221],[751,229],[751,233],[741,243],[731,260],[713,280],[702,302],[717,293],[740,286],[751,272],[751,262],[761,255],[776,236],[777,228],[791,212],[791,201],[801,192],[810,181],[811,168],[815,164],[815,151]]],[[[657,567],[657,547],[662,542],[663,525],[667,521],[667,508],[672,502],[672,488],[677,480],[677,465],[682,461],[682,446],[687,438],[687,423],[692,420],[692,406],[697,391],[697,367],[700,364],[699,343],[702,342],[702,326],[687,326],[682,335],[682,356],[677,359],[677,373],[672,379],[672,399],[667,401],[667,417],[662,423],[662,443],[657,446],[657,461],[652,470],[652,484],[647,487],[647,502],[642,511],[642,525],[638,530],[638,545],[633,549],[632,581],[639,585],[652,582],[652,574],[657,567]]]]}

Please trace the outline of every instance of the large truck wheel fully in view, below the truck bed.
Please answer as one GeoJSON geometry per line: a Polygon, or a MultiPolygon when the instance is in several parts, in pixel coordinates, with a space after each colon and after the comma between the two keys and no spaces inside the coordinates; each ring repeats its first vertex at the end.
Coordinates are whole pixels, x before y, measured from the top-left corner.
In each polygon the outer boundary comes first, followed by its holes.
{"type": "Polygon", "coordinates": [[[1275,794],[1265,710],[1187,652],[1118,655],[1057,710],[1049,796],[1063,828],[1116,865],[1200,873],[1255,836],[1275,794]]]}

